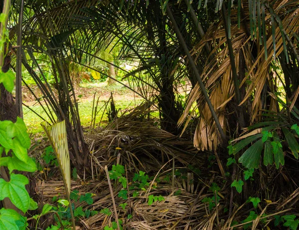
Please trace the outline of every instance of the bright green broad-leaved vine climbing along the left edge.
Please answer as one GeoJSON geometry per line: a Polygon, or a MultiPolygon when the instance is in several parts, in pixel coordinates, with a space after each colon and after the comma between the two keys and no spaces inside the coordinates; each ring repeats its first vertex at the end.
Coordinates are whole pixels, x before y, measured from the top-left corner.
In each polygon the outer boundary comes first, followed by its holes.
{"type": "MultiPolygon", "coordinates": [[[[11,70],[3,73],[1,68],[5,56],[5,45],[8,43],[8,31],[6,30],[10,1],[5,0],[3,13],[0,14],[0,83],[8,92],[14,88],[15,76],[11,70]]],[[[0,121],[0,166],[9,170],[9,181],[0,178],[0,200],[8,198],[11,203],[24,214],[28,210],[37,209],[25,185],[29,183],[27,177],[13,173],[14,170],[34,172],[35,162],[28,156],[30,138],[24,121],[17,117],[16,122],[10,120],[0,121]],[[2,157],[2,153],[4,156],[2,157]]],[[[27,218],[21,216],[13,209],[2,208],[0,210],[1,230],[24,230],[28,226],[27,218]]]]}

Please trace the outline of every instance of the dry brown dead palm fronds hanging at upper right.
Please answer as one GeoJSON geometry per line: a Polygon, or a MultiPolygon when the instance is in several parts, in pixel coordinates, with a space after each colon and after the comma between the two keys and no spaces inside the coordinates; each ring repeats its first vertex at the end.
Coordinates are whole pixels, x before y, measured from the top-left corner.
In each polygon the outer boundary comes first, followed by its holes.
{"type": "MultiPolygon", "coordinates": [[[[280,26],[275,24],[275,51],[271,29],[272,22],[270,20],[271,14],[267,13],[265,15],[266,27],[268,28],[266,41],[267,58],[264,46],[259,44],[259,26],[257,26],[256,36],[251,39],[246,33],[244,23],[238,28],[237,17],[234,16],[237,15],[236,9],[232,9],[231,11],[231,37],[237,72],[240,72],[239,54],[241,52],[245,57],[245,65],[248,72],[240,82],[240,88],[245,88],[246,94],[243,95],[239,107],[247,108],[246,110],[249,112],[251,122],[260,119],[260,116],[258,115],[263,109],[262,92],[265,88],[265,84],[268,84],[273,93],[277,90],[277,86],[273,83],[273,76],[270,75],[269,71],[272,62],[274,61],[274,54],[277,57],[284,52],[285,37],[281,32],[281,26],[283,26],[284,30],[291,38],[293,38],[295,33],[298,33],[299,9],[290,6],[292,12],[285,16],[281,6],[285,5],[286,2],[287,1],[280,1],[279,4],[274,6],[275,14],[280,15],[282,18],[282,24],[280,26]],[[252,40],[257,43],[256,58],[254,58],[252,54],[252,40]]],[[[245,4],[245,16],[248,15],[247,7],[248,5],[245,4]]],[[[246,21],[248,19],[244,18],[243,20],[246,21]]],[[[247,25],[249,24],[248,21],[246,23],[247,25]]],[[[221,126],[225,129],[227,125],[227,106],[234,101],[235,88],[232,81],[231,61],[228,56],[229,52],[226,44],[225,30],[222,25],[223,20],[220,20],[218,24],[212,24],[201,42],[193,48],[192,55],[195,58],[198,57],[199,54],[203,52],[205,44],[207,42],[212,42],[214,46],[214,49],[212,50],[214,58],[206,63],[201,78],[204,81],[205,88],[209,93],[209,97],[221,122],[221,126]]],[[[270,107],[267,108],[267,110],[278,112],[277,102],[272,98],[270,100],[270,107]]],[[[214,120],[212,119],[198,86],[193,88],[186,103],[185,111],[178,121],[178,125],[184,125],[184,131],[191,120],[191,116],[195,114],[194,111],[197,109],[200,117],[194,135],[194,146],[202,150],[216,149],[221,141],[215,128],[214,120]]]]}

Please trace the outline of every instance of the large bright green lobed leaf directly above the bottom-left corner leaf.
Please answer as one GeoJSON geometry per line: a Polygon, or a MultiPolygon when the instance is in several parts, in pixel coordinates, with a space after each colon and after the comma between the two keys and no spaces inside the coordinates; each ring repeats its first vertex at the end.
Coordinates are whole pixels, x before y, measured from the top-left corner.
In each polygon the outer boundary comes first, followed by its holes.
{"type": "Polygon", "coordinates": [[[25,185],[28,183],[27,177],[14,173],[10,175],[9,182],[0,179],[0,200],[8,197],[15,207],[25,213],[30,204],[30,197],[25,189],[25,185]]]}

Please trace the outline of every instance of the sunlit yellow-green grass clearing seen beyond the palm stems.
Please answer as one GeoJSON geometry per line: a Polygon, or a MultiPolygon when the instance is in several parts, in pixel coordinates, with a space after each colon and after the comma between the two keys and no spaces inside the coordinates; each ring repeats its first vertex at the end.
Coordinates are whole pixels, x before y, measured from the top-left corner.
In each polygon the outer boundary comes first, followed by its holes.
{"type": "MultiPolygon", "coordinates": [[[[128,85],[128,82],[123,83],[128,85]]],[[[36,85],[30,85],[30,88],[37,97],[42,97],[41,92],[36,85]]],[[[24,104],[47,120],[41,106],[37,103],[29,90],[26,87],[23,87],[22,90],[24,104]]],[[[76,87],[75,93],[78,100],[79,114],[83,126],[90,125],[94,97],[95,103],[99,98],[98,110],[101,109],[100,113],[97,115],[96,121],[99,122],[104,113],[102,119],[103,123],[106,123],[108,119],[104,109],[105,103],[107,103],[111,97],[111,93],[113,93],[116,109],[120,109],[121,111],[136,107],[142,102],[142,98],[140,96],[136,95],[133,91],[119,83],[107,85],[106,82],[82,82],[80,86],[76,87]]],[[[35,134],[42,131],[40,126],[42,119],[34,114],[30,109],[23,107],[24,121],[28,127],[29,133],[35,134]]]]}

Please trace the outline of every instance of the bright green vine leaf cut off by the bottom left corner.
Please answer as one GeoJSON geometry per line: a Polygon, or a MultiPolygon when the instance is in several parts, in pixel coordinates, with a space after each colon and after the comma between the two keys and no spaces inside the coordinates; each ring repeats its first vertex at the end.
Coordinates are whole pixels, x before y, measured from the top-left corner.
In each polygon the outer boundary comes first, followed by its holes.
{"type": "Polygon", "coordinates": [[[20,215],[12,209],[0,210],[0,230],[19,230],[16,221],[20,220],[20,215]]]}

